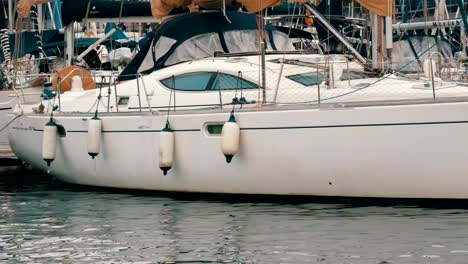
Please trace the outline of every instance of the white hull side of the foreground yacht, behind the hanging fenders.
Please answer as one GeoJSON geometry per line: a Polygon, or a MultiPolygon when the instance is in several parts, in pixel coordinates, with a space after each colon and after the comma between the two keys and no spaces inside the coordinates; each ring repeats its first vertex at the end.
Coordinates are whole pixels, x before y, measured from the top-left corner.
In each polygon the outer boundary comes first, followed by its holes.
{"type": "MultiPolygon", "coordinates": [[[[229,113],[176,114],[174,166],[159,169],[166,117],[100,116],[101,153],[86,150],[83,116],[57,116],[50,173],[69,183],[179,192],[388,198],[468,198],[468,102],[238,112],[240,149],[228,164],[220,135],[229,113]]],[[[10,134],[23,161],[41,158],[46,116],[23,116],[10,134]]]]}

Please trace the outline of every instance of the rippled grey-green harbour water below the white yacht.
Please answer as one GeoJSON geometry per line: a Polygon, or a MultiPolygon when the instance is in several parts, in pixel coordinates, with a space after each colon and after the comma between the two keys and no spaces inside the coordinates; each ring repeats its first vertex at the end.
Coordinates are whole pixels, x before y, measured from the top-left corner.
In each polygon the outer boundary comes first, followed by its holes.
{"type": "Polygon", "coordinates": [[[77,188],[6,170],[0,262],[468,262],[468,211],[457,206],[202,198],[77,188]]]}

